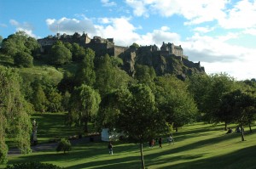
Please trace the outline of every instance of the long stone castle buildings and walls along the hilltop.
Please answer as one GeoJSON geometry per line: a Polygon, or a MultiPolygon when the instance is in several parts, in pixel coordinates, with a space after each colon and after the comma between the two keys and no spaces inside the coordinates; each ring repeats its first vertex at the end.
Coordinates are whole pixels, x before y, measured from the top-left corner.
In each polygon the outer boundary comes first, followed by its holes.
{"type": "MultiPolygon", "coordinates": [[[[109,54],[110,56],[119,56],[120,54],[124,54],[127,51],[128,47],[117,46],[113,42],[113,38],[104,39],[102,37],[88,37],[87,33],[83,33],[80,35],[78,32],[75,32],[73,35],[67,35],[66,33],[60,34],[57,33],[55,36],[48,36],[42,39],[38,39],[38,43],[41,46],[42,53],[49,53],[49,49],[54,45],[55,42],[70,42],[70,43],[78,43],[80,46],[84,48],[93,49],[97,55],[109,54]]],[[[181,45],[176,46],[173,43],[165,43],[163,42],[160,49],[154,44],[150,46],[140,46],[137,48],[138,52],[154,52],[159,53],[161,55],[176,55],[181,59],[186,58],[187,56],[183,55],[183,48],[181,45]]]]}

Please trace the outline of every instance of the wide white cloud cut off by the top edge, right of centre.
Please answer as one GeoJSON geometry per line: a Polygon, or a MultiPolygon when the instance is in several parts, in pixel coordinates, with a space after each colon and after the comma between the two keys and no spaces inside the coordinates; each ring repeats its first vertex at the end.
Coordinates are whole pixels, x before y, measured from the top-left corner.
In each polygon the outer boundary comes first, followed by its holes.
{"type": "Polygon", "coordinates": [[[173,14],[178,14],[189,20],[186,25],[195,25],[223,18],[223,9],[228,0],[126,0],[125,3],[133,8],[133,14],[136,16],[148,17],[151,13],[171,17],[173,14]]]}

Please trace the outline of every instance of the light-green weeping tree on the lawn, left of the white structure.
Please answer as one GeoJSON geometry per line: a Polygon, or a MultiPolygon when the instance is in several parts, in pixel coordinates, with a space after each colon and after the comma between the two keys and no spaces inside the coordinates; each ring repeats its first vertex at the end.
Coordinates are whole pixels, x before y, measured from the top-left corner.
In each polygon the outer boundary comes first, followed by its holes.
{"type": "Polygon", "coordinates": [[[88,132],[88,121],[95,118],[100,102],[100,94],[93,88],[84,84],[75,87],[69,100],[68,118],[70,123],[74,122],[79,127],[84,126],[84,132],[88,132]]]}

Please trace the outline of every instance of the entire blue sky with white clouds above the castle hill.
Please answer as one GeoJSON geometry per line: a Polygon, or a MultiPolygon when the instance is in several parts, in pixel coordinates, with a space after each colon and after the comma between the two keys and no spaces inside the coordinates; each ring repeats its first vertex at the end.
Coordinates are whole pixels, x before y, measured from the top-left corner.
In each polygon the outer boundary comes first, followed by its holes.
{"type": "Polygon", "coordinates": [[[0,36],[88,33],[130,46],[173,42],[208,74],[256,78],[256,0],[0,0],[0,36]]]}

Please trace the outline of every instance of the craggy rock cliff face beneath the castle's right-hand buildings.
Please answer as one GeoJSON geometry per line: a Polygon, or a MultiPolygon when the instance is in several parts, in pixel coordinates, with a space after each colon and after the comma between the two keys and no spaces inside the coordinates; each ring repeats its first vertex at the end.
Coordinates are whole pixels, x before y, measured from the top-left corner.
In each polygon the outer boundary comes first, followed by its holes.
{"type": "Polygon", "coordinates": [[[194,73],[205,73],[200,62],[194,63],[184,57],[160,51],[129,49],[119,57],[124,61],[123,69],[130,75],[135,73],[136,64],[152,66],[157,76],[174,74],[180,79],[185,79],[186,76],[194,73]]]}

